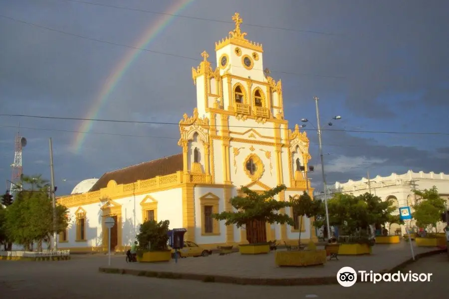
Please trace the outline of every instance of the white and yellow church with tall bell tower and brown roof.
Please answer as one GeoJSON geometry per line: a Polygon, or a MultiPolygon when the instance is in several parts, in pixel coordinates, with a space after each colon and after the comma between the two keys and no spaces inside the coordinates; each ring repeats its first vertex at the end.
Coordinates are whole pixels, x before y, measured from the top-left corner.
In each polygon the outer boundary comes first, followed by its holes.
{"type": "MultiPolygon", "coordinates": [[[[232,17],[235,29],[216,43],[218,67],[209,54],[192,69],[197,108],[179,123],[181,153],[105,173],[88,192],[62,196],[71,222],[58,238],[58,247],[72,251],[122,251],[135,240],[145,219],[170,220],[170,228],[186,228],[185,238],[205,248],[244,244],[244,228],[225,226],[212,214],[232,211],[229,199],[241,186],[287,189],[277,200],[313,189],[299,166],[310,159],[309,141],[296,125],[288,130],[283,116],[281,81],[263,71],[262,45],[245,38],[242,19],[232,17]],[[309,186],[307,186],[309,184],[309,186]],[[113,217],[111,236],[104,219],[113,217]]],[[[297,243],[316,240],[313,219],[294,216],[295,226],[267,224],[267,240],[297,243]]]]}

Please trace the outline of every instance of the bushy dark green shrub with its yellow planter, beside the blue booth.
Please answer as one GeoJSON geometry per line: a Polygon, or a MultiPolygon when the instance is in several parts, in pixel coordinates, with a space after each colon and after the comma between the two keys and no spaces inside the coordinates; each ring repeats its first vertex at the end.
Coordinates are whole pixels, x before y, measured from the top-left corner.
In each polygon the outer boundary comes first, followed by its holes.
{"type": "Polygon", "coordinates": [[[148,220],[139,227],[136,236],[139,243],[137,258],[139,262],[170,261],[171,251],[168,249],[168,231],[170,221],[148,220]]]}

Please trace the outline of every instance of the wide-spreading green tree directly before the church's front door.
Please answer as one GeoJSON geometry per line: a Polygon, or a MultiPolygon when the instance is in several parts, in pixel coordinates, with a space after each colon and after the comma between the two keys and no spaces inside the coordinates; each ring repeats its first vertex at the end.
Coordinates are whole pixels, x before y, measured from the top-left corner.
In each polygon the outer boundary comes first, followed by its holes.
{"type": "Polygon", "coordinates": [[[236,211],[225,211],[214,214],[213,217],[217,220],[225,220],[226,225],[245,226],[246,240],[249,244],[265,243],[265,224],[267,222],[294,225],[290,216],[278,213],[280,209],[290,206],[290,203],[273,199],[275,195],[285,189],[285,185],[279,185],[259,193],[242,187],[241,191],[246,196],[235,196],[230,199],[230,203],[236,211]]]}

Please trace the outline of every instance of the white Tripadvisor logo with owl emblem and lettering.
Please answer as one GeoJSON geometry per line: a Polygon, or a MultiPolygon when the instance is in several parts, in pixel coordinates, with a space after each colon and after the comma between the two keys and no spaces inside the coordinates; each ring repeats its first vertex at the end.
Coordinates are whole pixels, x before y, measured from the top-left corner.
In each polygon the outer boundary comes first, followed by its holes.
{"type": "Polygon", "coordinates": [[[374,273],[373,271],[358,271],[356,272],[351,267],[343,267],[337,273],[337,281],[343,287],[352,287],[360,279],[360,282],[372,282],[373,284],[379,282],[431,282],[432,273],[374,273]],[[357,275],[357,273],[359,275],[357,275]]]}

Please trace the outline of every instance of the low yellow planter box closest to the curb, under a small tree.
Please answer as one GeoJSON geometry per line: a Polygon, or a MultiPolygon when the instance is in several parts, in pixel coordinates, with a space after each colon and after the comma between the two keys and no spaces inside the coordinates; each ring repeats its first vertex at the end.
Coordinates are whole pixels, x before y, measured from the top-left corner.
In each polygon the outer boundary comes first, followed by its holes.
{"type": "Polygon", "coordinates": [[[325,250],[276,251],[277,266],[305,267],[326,263],[325,250]]]}

